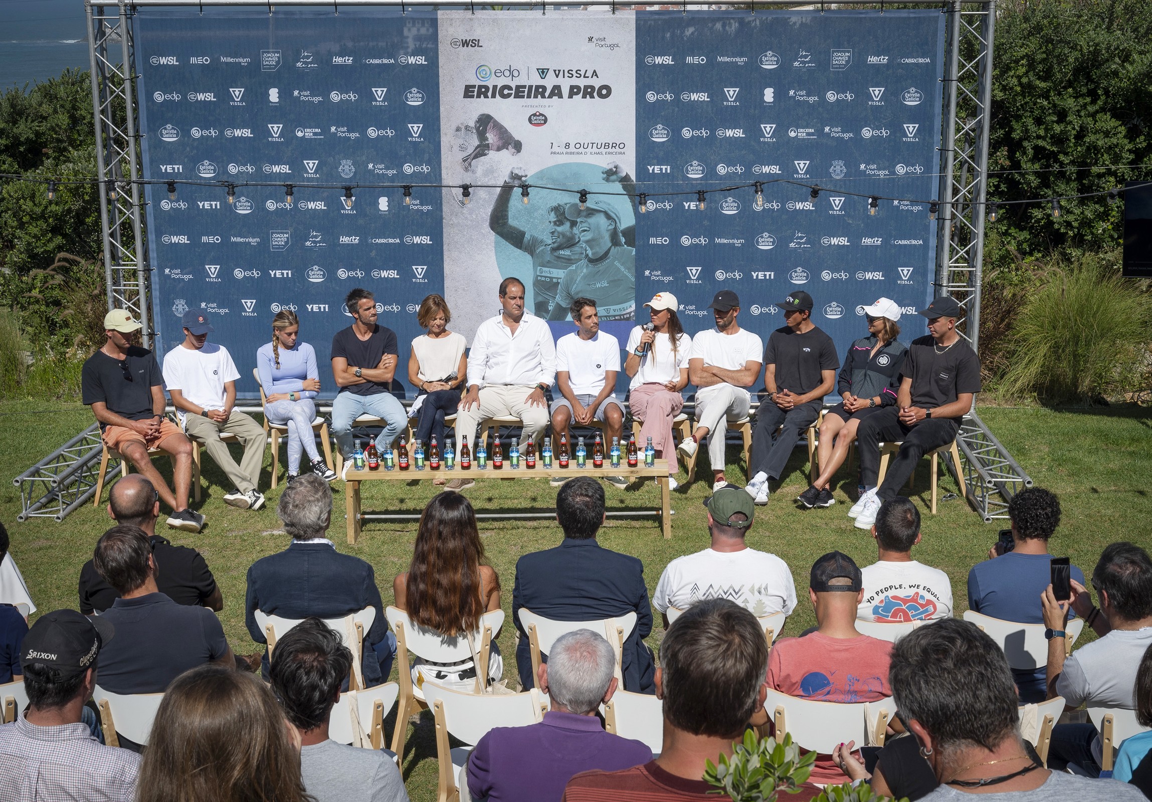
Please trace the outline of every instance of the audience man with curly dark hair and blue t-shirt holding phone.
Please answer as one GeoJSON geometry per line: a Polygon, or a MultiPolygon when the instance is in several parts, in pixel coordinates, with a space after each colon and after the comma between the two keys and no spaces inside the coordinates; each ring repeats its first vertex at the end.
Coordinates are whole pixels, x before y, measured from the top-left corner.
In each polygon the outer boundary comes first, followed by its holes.
{"type": "MultiPolygon", "coordinates": [[[[1044,623],[1040,595],[1052,581],[1048,539],[1060,525],[1060,500],[1044,487],[1028,487],[1008,502],[1013,548],[1000,553],[1000,544],[988,550],[988,559],[968,573],[968,607],[1003,621],[1044,623]]],[[[1084,584],[1084,572],[1071,567],[1071,577],[1084,584]]],[[[1022,704],[1047,698],[1044,666],[1034,671],[1014,669],[1022,704]]]]}

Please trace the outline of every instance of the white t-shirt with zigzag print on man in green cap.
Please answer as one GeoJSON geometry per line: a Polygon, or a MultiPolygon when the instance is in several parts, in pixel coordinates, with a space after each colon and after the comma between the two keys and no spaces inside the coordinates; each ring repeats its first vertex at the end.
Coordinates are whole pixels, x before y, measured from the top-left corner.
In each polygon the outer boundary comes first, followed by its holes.
{"type": "Polygon", "coordinates": [[[796,607],[796,585],[788,565],[775,554],[744,548],[718,552],[705,548],[677,557],[657,582],[652,606],[687,610],[702,599],[732,599],[757,618],[796,607]]]}

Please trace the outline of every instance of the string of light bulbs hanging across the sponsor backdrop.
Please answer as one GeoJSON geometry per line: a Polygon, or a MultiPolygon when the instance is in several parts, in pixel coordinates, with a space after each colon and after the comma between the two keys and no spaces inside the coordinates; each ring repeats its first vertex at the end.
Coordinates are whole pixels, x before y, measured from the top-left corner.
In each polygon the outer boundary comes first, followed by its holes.
{"type": "MultiPolygon", "coordinates": [[[[26,175],[18,173],[0,173],[0,182],[3,181],[20,181],[25,183],[38,183],[46,186],[46,192],[50,200],[55,199],[56,191],[60,187],[71,187],[71,186],[94,186],[99,183],[106,184],[106,191],[109,199],[115,200],[119,192],[127,191],[128,187],[136,184],[139,187],[164,187],[168,190],[168,198],[170,200],[176,199],[179,187],[211,187],[225,190],[225,195],[229,204],[234,204],[236,200],[236,190],[245,187],[256,188],[267,188],[275,187],[282,189],[285,192],[285,202],[290,206],[294,203],[295,192],[297,189],[308,190],[343,190],[343,196],[346,200],[353,200],[355,198],[355,190],[369,190],[369,189],[400,189],[403,191],[404,204],[411,204],[412,202],[412,190],[416,189],[453,189],[460,191],[460,198],[463,204],[468,204],[473,189],[502,189],[506,187],[513,187],[520,189],[520,195],[523,203],[526,205],[530,198],[531,189],[547,190],[553,192],[568,192],[575,195],[579,199],[581,209],[584,209],[588,203],[588,198],[591,195],[604,195],[604,196],[619,196],[619,192],[607,191],[607,190],[589,190],[589,189],[573,189],[570,187],[552,187],[547,184],[530,184],[526,182],[520,182],[516,184],[500,183],[500,184],[450,184],[450,183],[286,183],[279,181],[191,181],[187,179],[181,180],[169,180],[169,179],[134,179],[134,180],[115,180],[108,179],[101,182],[99,179],[90,176],[44,176],[44,175],[26,175]]],[[[704,211],[707,207],[707,196],[714,192],[730,194],[744,189],[751,189],[755,192],[753,207],[759,211],[764,209],[764,188],[771,184],[786,184],[797,188],[803,188],[809,190],[809,196],[816,200],[820,192],[834,192],[836,195],[867,198],[869,202],[869,214],[876,214],[879,210],[880,202],[894,202],[894,203],[909,203],[909,204],[923,204],[929,207],[930,219],[935,219],[939,213],[940,206],[942,205],[982,205],[977,202],[971,202],[968,199],[954,199],[950,202],[939,200],[935,198],[904,198],[904,197],[893,197],[886,195],[877,195],[873,192],[856,192],[848,189],[841,189],[836,187],[824,187],[817,183],[804,183],[801,181],[794,181],[790,179],[768,179],[764,181],[752,181],[750,183],[732,184],[727,187],[715,187],[711,189],[692,189],[692,190],[672,190],[672,191],[637,191],[635,198],[637,200],[638,211],[643,214],[647,211],[647,200],[650,198],[659,197],[679,197],[679,196],[696,196],[696,204],[698,211],[704,211]]],[[[1136,184],[1136,187],[1147,187],[1152,186],[1152,181],[1136,184]]],[[[1062,209],[1060,203],[1062,200],[1078,200],[1083,198],[1092,198],[1106,196],[1109,204],[1115,203],[1121,192],[1126,190],[1124,187],[1113,187],[1111,189],[1099,190],[1094,192],[1081,192],[1077,195],[1061,195],[1056,197],[1046,198],[1023,198],[1023,199],[1003,199],[1003,200],[984,200],[982,202],[984,206],[987,207],[987,215],[990,222],[995,222],[999,217],[1001,206],[1018,206],[1028,204],[1047,204],[1051,209],[1052,217],[1060,218],[1062,214],[1062,209]]]]}

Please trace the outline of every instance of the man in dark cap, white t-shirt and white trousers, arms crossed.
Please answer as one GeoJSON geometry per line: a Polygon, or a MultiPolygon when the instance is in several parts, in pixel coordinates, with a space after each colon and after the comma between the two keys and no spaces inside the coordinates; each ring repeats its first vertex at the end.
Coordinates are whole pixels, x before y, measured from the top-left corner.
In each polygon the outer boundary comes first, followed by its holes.
{"type": "Polygon", "coordinates": [[[760,376],[764,342],[736,323],[740,297],[721,289],[708,304],[717,327],[692,338],[688,360],[688,379],[696,385],[696,431],[680,444],[684,456],[696,453],[699,442],[708,438],[712,462],[712,490],[723,486],[725,436],[727,421],[748,417],[752,396],[748,393],[760,376]]]}

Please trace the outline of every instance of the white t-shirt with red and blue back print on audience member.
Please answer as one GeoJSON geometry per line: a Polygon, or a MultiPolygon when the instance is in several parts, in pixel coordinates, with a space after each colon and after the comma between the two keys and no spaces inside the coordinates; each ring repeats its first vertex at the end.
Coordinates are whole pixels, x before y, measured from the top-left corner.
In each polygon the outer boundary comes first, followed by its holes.
{"type": "Polygon", "coordinates": [[[952,582],[939,568],[881,560],[861,569],[864,600],[856,610],[861,621],[902,623],[952,618],[952,582]]]}

